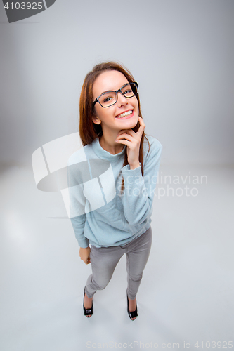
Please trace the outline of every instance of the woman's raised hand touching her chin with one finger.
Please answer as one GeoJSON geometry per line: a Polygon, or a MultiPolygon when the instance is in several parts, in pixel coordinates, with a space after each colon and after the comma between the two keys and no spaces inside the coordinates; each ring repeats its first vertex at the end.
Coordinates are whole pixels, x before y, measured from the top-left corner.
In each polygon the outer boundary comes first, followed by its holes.
{"type": "Polygon", "coordinates": [[[128,157],[130,169],[135,169],[140,166],[139,162],[139,149],[141,144],[141,137],[145,129],[143,119],[139,116],[138,121],[140,128],[135,133],[132,129],[123,129],[117,135],[116,143],[126,145],[126,154],[128,157]]]}

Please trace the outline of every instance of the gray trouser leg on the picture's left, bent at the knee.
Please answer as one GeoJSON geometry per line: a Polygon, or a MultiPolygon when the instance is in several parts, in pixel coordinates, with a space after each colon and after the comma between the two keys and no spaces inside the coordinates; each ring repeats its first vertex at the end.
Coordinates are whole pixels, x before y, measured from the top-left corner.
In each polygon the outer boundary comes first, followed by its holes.
{"type": "Polygon", "coordinates": [[[110,282],[117,263],[124,253],[125,250],[120,246],[110,246],[107,248],[91,246],[90,260],[92,274],[87,279],[85,287],[88,298],[92,298],[97,290],[105,289],[105,286],[110,282]]]}

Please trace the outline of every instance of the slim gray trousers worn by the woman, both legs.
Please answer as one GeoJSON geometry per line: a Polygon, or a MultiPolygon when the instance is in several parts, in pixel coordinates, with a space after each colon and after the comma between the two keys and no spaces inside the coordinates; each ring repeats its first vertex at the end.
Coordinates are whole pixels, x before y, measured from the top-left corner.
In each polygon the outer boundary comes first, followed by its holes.
{"type": "Polygon", "coordinates": [[[131,300],[141,284],[143,270],[150,255],[152,242],[151,227],[137,239],[124,246],[96,247],[91,246],[90,260],[92,274],[87,279],[85,292],[92,298],[97,290],[105,289],[120,258],[126,253],[127,294],[131,300]]]}

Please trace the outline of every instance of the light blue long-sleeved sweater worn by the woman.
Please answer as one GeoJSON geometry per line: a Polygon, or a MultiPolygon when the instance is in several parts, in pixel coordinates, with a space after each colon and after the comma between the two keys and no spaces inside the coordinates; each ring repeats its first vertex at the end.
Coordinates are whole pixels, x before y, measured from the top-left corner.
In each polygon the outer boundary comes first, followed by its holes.
{"type": "Polygon", "coordinates": [[[80,247],[122,246],[150,227],[162,145],[152,136],[147,138],[150,150],[144,140],[144,176],[141,166],[123,167],[126,146],[119,154],[110,154],[98,138],[70,157],[70,217],[80,247]]]}

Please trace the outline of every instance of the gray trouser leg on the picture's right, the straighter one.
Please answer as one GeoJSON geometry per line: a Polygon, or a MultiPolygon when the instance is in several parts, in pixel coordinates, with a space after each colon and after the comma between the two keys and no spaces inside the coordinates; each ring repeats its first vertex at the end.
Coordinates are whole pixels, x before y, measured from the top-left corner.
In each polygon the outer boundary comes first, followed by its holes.
{"type": "Polygon", "coordinates": [[[143,270],[150,255],[152,243],[151,227],[126,247],[126,272],[127,272],[127,294],[131,300],[136,298],[136,293],[141,284],[143,270]]]}

